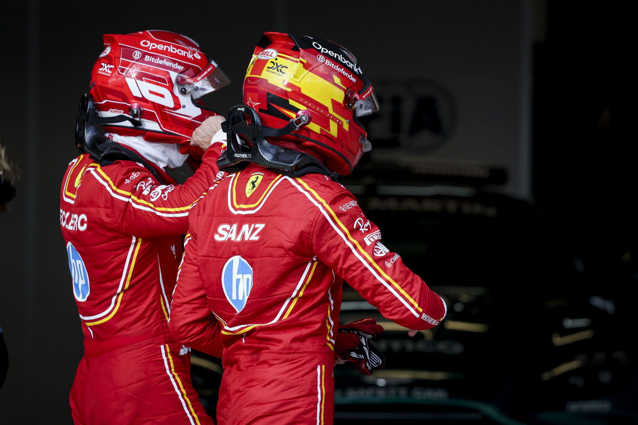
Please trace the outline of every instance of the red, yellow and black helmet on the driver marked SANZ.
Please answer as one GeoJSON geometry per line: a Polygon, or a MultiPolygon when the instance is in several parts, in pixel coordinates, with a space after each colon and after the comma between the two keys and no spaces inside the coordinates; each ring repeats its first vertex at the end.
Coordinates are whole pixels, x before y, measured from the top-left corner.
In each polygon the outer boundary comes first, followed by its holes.
{"type": "Polygon", "coordinates": [[[342,175],[350,174],[371,147],[357,117],[379,109],[371,82],[346,48],[284,33],[264,33],[255,47],[244,79],[244,104],[271,128],[305,114],[308,124],[267,140],[316,156],[342,175]]]}

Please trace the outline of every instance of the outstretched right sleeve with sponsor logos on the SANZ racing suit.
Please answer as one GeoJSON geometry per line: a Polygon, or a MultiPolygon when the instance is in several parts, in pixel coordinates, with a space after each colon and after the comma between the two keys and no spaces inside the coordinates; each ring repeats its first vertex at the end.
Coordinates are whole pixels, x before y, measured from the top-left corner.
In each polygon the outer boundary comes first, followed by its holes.
{"type": "Polygon", "coordinates": [[[347,281],[385,317],[409,329],[429,329],[447,308],[398,253],[382,243],[378,227],[367,220],[347,190],[324,200],[313,232],[317,257],[347,281]]]}

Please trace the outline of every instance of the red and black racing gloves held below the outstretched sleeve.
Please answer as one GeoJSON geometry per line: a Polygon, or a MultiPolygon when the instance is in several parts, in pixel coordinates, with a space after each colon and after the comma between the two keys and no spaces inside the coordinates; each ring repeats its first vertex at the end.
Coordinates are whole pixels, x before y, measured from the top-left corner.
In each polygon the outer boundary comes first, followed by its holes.
{"type": "Polygon", "coordinates": [[[385,357],[369,341],[381,332],[383,327],[371,317],[339,325],[334,354],[338,359],[353,362],[364,375],[372,375],[385,366],[385,357]]]}

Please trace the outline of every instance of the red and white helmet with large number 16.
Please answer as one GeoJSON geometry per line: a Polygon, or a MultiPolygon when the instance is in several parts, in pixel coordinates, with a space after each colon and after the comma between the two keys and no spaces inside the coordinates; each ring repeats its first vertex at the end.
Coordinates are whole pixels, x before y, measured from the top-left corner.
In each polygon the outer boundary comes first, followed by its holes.
{"type": "Polygon", "coordinates": [[[159,30],[103,38],[89,95],[106,131],[183,142],[207,117],[218,115],[200,98],[230,80],[195,41],[159,30]]]}

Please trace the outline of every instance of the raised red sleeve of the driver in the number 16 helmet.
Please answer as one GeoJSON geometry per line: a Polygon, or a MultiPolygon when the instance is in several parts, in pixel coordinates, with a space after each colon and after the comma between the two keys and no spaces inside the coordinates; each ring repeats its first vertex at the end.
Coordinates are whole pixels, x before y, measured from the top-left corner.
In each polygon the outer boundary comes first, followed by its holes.
{"type": "Polygon", "coordinates": [[[159,184],[146,168],[133,161],[98,167],[91,174],[110,198],[115,230],[138,237],[180,235],[188,231],[191,205],[221,177],[219,147],[211,146],[202,165],[184,184],[159,184]]]}

